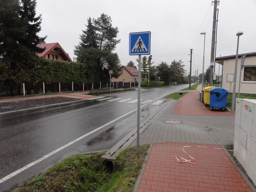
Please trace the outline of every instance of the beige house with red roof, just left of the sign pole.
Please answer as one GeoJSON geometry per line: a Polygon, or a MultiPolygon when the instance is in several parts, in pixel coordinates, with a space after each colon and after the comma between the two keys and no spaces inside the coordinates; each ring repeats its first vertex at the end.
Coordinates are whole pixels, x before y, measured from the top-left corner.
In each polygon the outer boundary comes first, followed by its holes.
{"type": "Polygon", "coordinates": [[[122,66],[122,75],[119,78],[113,78],[113,81],[124,81],[124,82],[137,82],[138,80],[138,70],[130,66],[122,66]]]}

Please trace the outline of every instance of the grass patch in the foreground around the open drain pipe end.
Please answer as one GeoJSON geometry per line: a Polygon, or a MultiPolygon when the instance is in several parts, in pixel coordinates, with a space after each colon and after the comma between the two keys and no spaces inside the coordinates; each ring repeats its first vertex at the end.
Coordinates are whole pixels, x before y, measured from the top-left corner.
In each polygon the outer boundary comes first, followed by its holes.
{"type": "Polygon", "coordinates": [[[120,152],[115,161],[114,172],[110,172],[100,163],[100,156],[104,153],[78,154],[20,184],[14,191],[132,191],[148,148],[149,145],[141,145],[140,155],[136,154],[136,147],[129,147],[120,152]]]}

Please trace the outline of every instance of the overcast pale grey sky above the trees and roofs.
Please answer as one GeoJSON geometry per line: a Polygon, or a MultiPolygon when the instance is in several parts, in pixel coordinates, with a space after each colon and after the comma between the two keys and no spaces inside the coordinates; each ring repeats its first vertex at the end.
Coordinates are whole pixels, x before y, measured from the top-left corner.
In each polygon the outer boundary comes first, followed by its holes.
{"type": "MultiPolygon", "coordinates": [[[[201,31],[206,32],[205,70],[210,64],[213,8],[211,0],[37,0],[37,14],[42,14],[40,35],[47,35],[47,43],[59,42],[72,59],[87,18],[106,13],[119,28],[121,42],[115,51],[122,65],[130,60],[137,65],[137,56],[129,55],[129,33],[151,31],[154,64],[181,59],[189,72],[192,48],[192,75],[196,69],[202,72],[201,31]]],[[[220,0],[218,8],[216,55],[236,54],[237,31],[244,32],[239,53],[256,52],[256,0],[220,0]]]]}

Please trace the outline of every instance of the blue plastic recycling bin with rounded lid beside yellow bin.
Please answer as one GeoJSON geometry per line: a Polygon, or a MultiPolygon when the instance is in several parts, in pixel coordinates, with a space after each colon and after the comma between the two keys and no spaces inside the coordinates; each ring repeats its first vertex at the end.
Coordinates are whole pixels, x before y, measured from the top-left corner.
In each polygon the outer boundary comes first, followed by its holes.
{"type": "Polygon", "coordinates": [[[210,90],[209,93],[210,93],[209,108],[211,110],[222,109],[223,111],[225,111],[229,92],[226,89],[214,88],[210,90]]]}

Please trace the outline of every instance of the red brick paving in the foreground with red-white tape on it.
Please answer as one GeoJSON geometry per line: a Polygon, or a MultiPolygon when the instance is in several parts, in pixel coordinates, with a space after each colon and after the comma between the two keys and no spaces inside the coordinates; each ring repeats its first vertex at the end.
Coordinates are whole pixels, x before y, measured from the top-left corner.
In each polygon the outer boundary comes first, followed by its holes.
{"type": "Polygon", "coordinates": [[[188,147],[185,151],[195,158],[196,165],[179,163],[175,155],[189,159],[182,152],[184,145],[221,148],[220,145],[194,143],[154,143],[139,185],[146,191],[251,191],[224,150],[188,147]]]}

